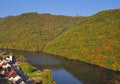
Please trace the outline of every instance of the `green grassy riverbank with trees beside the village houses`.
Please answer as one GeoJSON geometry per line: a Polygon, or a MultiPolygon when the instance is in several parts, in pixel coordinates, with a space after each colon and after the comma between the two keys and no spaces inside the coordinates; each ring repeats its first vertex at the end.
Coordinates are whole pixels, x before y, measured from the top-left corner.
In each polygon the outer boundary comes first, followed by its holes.
{"type": "MultiPolygon", "coordinates": [[[[8,55],[4,55],[6,57],[8,55]]],[[[22,55],[14,55],[16,64],[20,67],[22,72],[32,79],[36,84],[56,84],[52,79],[51,70],[45,69],[43,72],[38,70],[35,66],[26,61],[22,55]]]]}

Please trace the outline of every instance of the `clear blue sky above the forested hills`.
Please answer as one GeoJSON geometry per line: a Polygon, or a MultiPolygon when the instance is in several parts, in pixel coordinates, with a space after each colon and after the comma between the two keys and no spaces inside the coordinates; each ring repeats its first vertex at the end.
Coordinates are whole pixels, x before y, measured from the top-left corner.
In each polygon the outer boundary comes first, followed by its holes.
{"type": "Polygon", "coordinates": [[[119,8],[120,0],[0,0],[0,18],[28,12],[91,16],[102,10],[119,8]]]}

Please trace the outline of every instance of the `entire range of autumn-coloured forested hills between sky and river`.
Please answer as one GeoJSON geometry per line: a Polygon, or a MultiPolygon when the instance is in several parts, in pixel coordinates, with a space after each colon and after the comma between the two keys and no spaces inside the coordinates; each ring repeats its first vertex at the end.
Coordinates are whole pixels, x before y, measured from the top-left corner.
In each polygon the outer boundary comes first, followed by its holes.
{"type": "Polygon", "coordinates": [[[120,71],[120,9],[90,17],[9,16],[0,19],[0,48],[44,51],[120,71]]]}

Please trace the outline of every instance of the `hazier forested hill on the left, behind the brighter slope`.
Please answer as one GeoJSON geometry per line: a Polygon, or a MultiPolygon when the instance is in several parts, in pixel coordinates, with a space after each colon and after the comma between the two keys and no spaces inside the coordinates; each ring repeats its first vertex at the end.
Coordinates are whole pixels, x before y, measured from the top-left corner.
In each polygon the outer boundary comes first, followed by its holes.
{"type": "Polygon", "coordinates": [[[42,51],[46,43],[85,17],[25,13],[0,19],[0,47],[42,51]]]}

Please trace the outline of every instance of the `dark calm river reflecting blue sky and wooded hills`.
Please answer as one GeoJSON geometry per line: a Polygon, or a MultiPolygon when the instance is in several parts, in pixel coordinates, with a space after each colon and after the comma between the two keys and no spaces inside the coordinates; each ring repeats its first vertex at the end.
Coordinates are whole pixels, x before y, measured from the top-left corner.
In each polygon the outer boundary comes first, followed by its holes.
{"type": "Polygon", "coordinates": [[[29,63],[41,71],[51,69],[57,84],[120,84],[120,72],[45,53],[6,52],[24,55],[29,63]]]}

